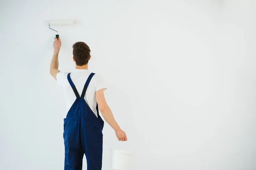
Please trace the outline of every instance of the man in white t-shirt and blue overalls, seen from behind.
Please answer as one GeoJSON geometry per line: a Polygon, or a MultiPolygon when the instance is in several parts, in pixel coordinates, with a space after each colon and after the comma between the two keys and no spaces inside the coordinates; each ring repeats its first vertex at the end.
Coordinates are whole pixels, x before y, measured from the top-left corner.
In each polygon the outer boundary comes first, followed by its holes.
{"type": "Polygon", "coordinates": [[[119,141],[127,141],[126,134],[113,117],[104,91],[107,88],[102,78],[88,71],[90,48],[84,42],[73,45],[73,60],[76,69],[71,73],[58,70],[58,54],[61,39],[53,43],[54,53],[50,74],[64,88],[67,116],[64,119],[65,170],[81,170],[85,154],[87,170],[102,169],[102,128],[104,122],[99,111],[115,130],[119,141]],[[99,108],[99,109],[98,109],[99,108]]]}

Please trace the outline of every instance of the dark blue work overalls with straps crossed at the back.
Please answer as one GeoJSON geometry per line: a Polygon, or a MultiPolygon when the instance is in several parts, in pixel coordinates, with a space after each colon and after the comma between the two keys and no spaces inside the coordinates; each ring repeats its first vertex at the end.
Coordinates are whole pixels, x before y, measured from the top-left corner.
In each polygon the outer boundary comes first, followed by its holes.
{"type": "Polygon", "coordinates": [[[84,100],[84,95],[93,75],[94,73],[91,73],[88,77],[81,97],[70,78],[70,73],[67,75],[76,95],[76,101],[64,119],[64,170],[82,170],[84,154],[87,159],[87,170],[102,169],[102,128],[104,122],[99,116],[98,104],[96,106],[97,117],[84,100]]]}

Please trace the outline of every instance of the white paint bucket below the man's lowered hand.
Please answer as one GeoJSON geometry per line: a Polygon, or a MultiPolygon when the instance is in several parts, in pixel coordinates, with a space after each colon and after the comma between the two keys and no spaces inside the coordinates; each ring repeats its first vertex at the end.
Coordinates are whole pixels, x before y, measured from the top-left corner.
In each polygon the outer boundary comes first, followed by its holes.
{"type": "Polygon", "coordinates": [[[111,168],[114,170],[132,170],[132,158],[131,150],[111,149],[111,168]]]}

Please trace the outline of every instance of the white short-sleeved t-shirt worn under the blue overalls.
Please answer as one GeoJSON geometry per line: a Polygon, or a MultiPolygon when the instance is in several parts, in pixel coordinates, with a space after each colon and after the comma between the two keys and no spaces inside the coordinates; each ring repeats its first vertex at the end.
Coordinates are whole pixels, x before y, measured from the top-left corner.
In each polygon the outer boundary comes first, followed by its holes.
{"type": "MultiPolygon", "coordinates": [[[[68,74],[68,72],[59,72],[57,74],[57,82],[64,89],[65,99],[66,99],[66,108],[67,108],[67,112],[68,112],[76,100],[76,95],[67,80],[67,74],[68,74]]],[[[76,69],[71,72],[70,78],[71,78],[72,82],[74,83],[74,85],[76,86],[79,96],[81,96],[83,88],[84,88],[84,84],[90,74],[91,74],[91,72],[86,69],[76,69]]],[[[96,110],[97,102],[96,102],[96,98],[95,98],[95,92],[100,89],[106,90],[107,85],[105,84],[105,82],[102,80],[102,78],[99,75],[94,74],[93,78],[91,79],[91,81],[88,85],[84,99],[85,99],[87,105],[89,105],[90,109],[93,111],[93,113],[96,116],[97,116],[97,110],[96,110]]],[[[67,116],[67,113],[65,114],[65,117],[66,116],[67,116]]]]}

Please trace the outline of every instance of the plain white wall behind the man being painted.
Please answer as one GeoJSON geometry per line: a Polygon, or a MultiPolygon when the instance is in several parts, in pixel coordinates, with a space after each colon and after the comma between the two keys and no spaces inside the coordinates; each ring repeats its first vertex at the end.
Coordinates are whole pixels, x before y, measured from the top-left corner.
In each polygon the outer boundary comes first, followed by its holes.
{"type": "MultiPolygon", "coordinates": [[[[61,170],[64,94],[49,75],[55,27],[60,70],[72,44],[92,50],[89,69],[129,142],[104,130],[110,149],[132,148],[134,170],[256,169],[256,2],[253,0],[1,0],[0,169],[61,170]]],[[[84,170],[86,166],[84,166],[84,170]]]]}

